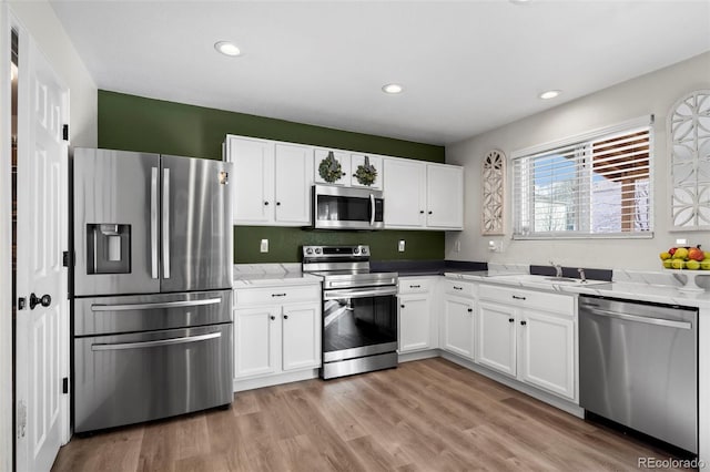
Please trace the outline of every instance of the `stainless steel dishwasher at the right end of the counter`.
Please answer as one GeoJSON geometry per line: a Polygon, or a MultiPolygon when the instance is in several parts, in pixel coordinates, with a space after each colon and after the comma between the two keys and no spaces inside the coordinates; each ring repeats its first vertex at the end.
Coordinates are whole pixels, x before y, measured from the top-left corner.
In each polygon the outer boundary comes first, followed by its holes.
{"type": "Polygon", "coordinates": [[[698,453],[698,309],[580,296],[579,403],[698,453]]]}

